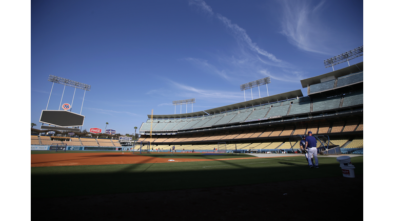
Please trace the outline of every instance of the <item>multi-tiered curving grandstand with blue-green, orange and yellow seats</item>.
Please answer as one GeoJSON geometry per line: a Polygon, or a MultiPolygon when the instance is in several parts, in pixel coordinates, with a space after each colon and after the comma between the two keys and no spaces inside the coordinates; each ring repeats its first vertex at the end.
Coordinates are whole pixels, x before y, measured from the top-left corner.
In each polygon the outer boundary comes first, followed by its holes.
{"type": "MultiPolygon", "coordinates": [[[[363,62],[301,80],[301,90],[216,107],[201,112],[148,115],[139,143],[155,151],[227,150],[291,152],[298,135],[328,136],[342,153],[363,153],[363,62]]],[[[318,143],[318,147],[321,144],[318,143]]],[[[295,149],[294,149],[295,150],[295,149]]]]}

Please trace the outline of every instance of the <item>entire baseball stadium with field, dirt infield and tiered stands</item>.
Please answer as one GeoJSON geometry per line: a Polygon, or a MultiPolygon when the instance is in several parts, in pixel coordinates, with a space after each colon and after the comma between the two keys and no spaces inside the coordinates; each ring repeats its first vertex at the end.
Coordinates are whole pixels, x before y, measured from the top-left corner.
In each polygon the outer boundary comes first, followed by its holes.
{"type": "Polygon", "coordinates": [[[341,210],[362,218],[349,211],[363,205],[363,62],[301,85],[307,95],[284,89],[199,112],[147,113],[138,140],[88,137],[74,128],[80,116],[62,117],[67,125],[43,111],[40,122],[57,127],[31,129],[32,217],[304,220],[300,205],[310,204],[307,216],[319,220],[341,210]],[[308,131],[319,168],[300,151],[308,131]]]}

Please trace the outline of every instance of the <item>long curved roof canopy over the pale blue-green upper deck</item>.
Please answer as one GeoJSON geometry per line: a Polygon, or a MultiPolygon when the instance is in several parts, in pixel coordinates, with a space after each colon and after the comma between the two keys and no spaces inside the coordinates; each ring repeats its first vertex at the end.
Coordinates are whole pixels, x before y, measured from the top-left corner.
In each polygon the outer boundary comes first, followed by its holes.
{"type": "MultiPolygon", "coordinates": [[[[233,111],[236,109],[252,107],[252,106],[260,106],[262,104],[268,104],[268,103],[273,103],[273,102],[278,102],[278,101],[283,101],[283,100],[288,100],[288,99],[293,99],[293,98],[298,98],[298,97],[303,97],[303,96],[304,95],[302,94],[301,90],[295,90],[295,91],[272,95],[272,96],[268,96],[268,97],[264,97],[264,98],[258,98],[258,99],[253,99],[253,100],[249,100],[249,101],[244,101],[241,103],[230,104],[230,105],[226,105],[226,106],[222,106],[222,107],[207,109],[207,110],[201,111],[201,112],[173,114],[173,115],[153,115],[153,119],[190,118],[190,117],[198,117],[198,116],[204,116],[204,115],[219,114],[221,112],[233,111]]],[[[151,117],[151,115],[148,115],[148,118],[150,118],[150,117],[151,117]]]]}

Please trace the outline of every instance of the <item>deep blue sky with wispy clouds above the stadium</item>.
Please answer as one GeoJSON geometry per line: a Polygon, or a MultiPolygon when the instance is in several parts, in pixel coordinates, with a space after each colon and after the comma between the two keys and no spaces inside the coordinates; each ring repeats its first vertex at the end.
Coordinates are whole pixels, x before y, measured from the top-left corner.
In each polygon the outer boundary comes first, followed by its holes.
{"type": "MultiPolygon", "coordinates": [[[[243,102],[240,84],[268,76],[269,95],[307,96],[300,80],[363,46],[362,12],[363,1],[32,1],[31,122],[42,124],[49,75],[91,85],[82,113],[83,90],[72,101],[66,86],[62,100],[85,116],[83,129],[108,122],[121,134],[133,134],[152,109],[191,112],[174,100],[195,98],[193,112],[243,102]]],[[[63,89],[54,84],[48,109],[59,108],[63,89]]]]}

